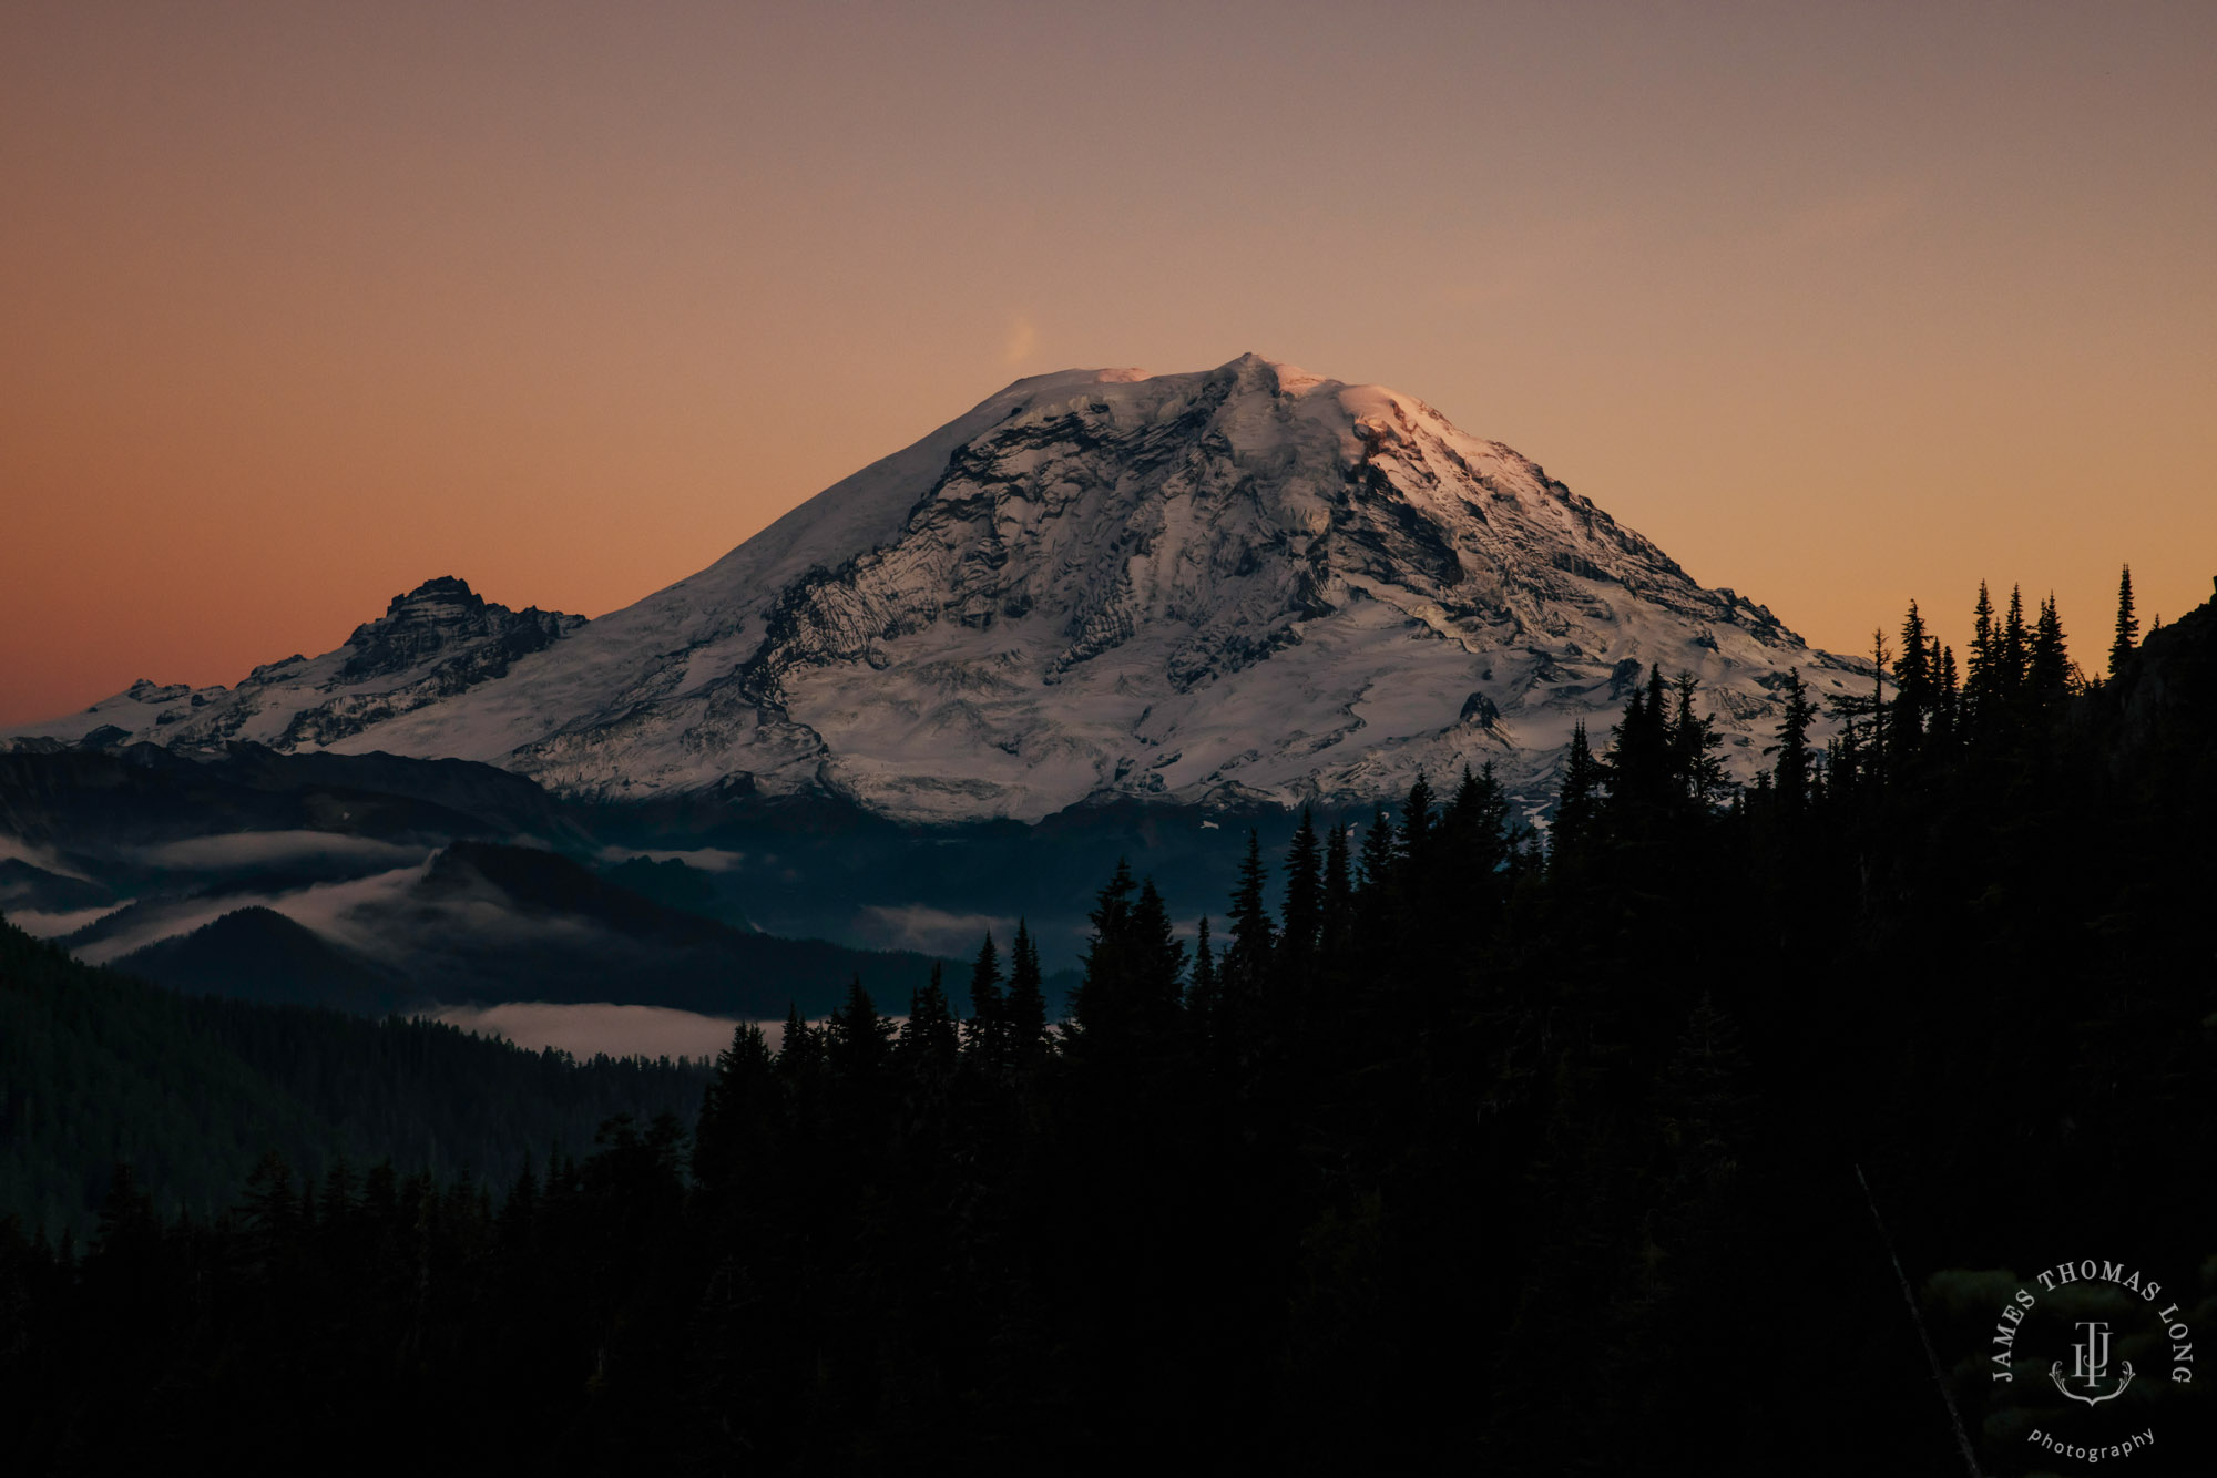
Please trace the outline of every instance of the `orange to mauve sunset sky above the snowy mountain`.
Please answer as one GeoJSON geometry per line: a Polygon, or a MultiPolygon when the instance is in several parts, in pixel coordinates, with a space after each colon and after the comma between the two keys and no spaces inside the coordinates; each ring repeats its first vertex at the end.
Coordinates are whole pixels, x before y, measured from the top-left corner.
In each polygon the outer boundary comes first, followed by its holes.
{"type": "Polygon", "coordinates": [[[1423,397],[1809,640],[2217,574],[2213,4],[0,7],[0,722],[603,614],[1018,374],[1423,397]]]}

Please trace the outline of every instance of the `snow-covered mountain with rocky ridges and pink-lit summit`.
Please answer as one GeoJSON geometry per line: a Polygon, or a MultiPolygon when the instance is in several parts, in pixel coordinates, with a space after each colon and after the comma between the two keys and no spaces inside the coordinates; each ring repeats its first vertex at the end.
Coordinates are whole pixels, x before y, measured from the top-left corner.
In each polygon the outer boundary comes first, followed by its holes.
{"type": "Polygon", "coordinates": [[[1867,680],[1423,401],[1244,355],[1018,381],[590,625],[432,581],[313,663],[18,733],[454,756],[607,800],[823,787],[905,820],[1361,802],[1488,760],[1543,800],[1649,663],[1700,676],[1743,769],[1789,667],[1867,680]]]}

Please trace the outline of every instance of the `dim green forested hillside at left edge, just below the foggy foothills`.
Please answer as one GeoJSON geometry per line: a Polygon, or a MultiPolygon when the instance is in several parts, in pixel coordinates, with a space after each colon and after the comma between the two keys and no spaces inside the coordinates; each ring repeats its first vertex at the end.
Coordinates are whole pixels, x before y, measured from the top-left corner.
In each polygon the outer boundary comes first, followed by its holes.
{"type": "Polygon", "coordinates": [[[177,995],[0,922],[0,1214],[89,1230],[129,1161],[157,1212],[213,1217],[255,1161],[512,1181],[619,1112],[692,1115],[670,1061],[525,1053],[437,1022],[177,995]]]}

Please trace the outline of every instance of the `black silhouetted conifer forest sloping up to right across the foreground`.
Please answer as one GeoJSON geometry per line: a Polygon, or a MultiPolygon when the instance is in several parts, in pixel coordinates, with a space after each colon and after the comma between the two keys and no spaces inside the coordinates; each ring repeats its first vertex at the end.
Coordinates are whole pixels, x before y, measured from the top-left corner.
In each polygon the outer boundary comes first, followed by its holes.
{"type": "Polygon", "coordinates": [[[1949,1294],[2135,1259],[2217,1334],[2217,607],[2133,634],[1911,614],[1745,789],[1654,674],[1545,846],[1481,773],[1193,942],[1117,873],[1069,1022],[989,944],[497,1190],[124,1174],[0,1232],[11,1467],[1947,1474],[1953,1400],[1989,1474],[2217,1471],[2217,1376],[2057,1409],[1949,1294]]]}

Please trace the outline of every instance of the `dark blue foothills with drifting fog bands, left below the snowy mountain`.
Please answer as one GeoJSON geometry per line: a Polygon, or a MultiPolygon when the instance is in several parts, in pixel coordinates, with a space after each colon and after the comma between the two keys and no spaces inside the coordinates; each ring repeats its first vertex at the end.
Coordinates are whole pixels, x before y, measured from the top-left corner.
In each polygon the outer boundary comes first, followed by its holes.
{"type": "Polygon", "coordinates": [[[896,931],[763,933],[727,886],[738,853],[652,862],[592,820],[468,760],[0,753],[0,913],[184,991],[370,1013],[539,999],[774,1019],[823,1015],[856,977],[898,1004],[951,964],[896,931]]]}

